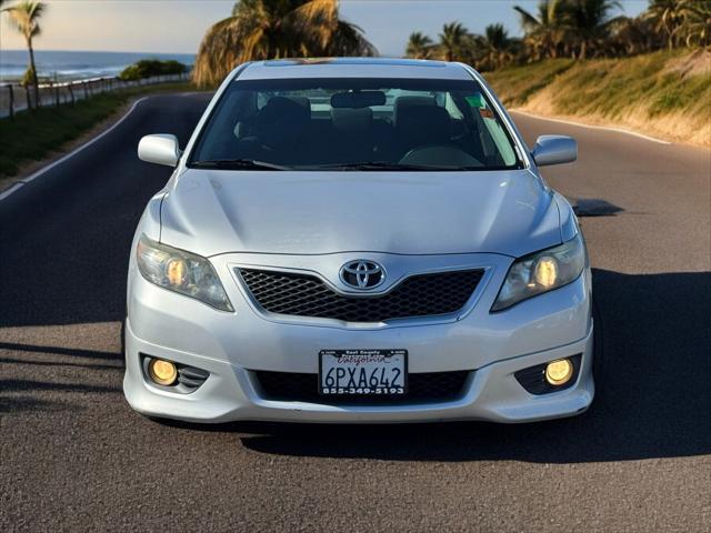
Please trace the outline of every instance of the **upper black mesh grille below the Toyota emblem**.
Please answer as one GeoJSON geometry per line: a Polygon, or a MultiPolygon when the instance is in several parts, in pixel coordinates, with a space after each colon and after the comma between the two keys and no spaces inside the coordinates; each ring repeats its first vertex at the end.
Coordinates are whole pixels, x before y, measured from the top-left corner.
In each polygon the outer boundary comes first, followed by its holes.
{"type": "Polygon", "coordinates": [[[412,275],[385,294],[351,296],[320,279],[291,272],[238,269],[259,305],[271,313],[383,322],[459,311],[479,284],[483,270],[412,275]]]}

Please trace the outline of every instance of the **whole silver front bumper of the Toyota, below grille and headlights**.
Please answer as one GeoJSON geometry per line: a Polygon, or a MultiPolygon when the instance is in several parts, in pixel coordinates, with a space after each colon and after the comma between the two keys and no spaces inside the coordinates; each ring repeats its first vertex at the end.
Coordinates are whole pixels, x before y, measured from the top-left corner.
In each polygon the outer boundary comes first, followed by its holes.
{"type": "MultiPolygon", "coordinates": [[[[157,288],[133,272],[126,328],[126,398],[147,415],[192,422],[529,422],[587,410],[594,395],[590,272],[508,311],[490,313],[510,261],[479,259],[493,266],[465,315],[420,325],[373,328],[268,320],[250,306],[243,288],[230,284],[224,275],[223,284],[237,311],[223,313],[157,288]],[[470,374],[451,401],[391,405],[276,401],[263,394],[254,375],[254,371],[313,374],[320,350],[368,348],[407,349],[411,373],[467,370],[470,374]],[[140,354],[196,366],[210,376],[190,394],[169,392],[146,380],[140,354]],[[582,354],[580,372],[565,390],[534,395],[513,375],[577,354],[582,354]]],[[[222,261],[213,263],[224,273],[231,263],[229,258],[222,261]]]]}

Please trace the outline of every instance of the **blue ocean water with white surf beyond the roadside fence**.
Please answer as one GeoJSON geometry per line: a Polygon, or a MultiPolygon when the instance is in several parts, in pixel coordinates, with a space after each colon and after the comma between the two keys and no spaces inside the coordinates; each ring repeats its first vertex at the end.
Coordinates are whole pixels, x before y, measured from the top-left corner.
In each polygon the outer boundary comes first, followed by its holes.
{"type": "MultiPolygon", "coordinates": [[[[192,66],[194,54],[134,52],[64,52],[36,51],[34,61],[41,78],[81,80],[119,74],[126,67],[141,59],[174,59],[192,66]]],[[[0,50],[0,80],[17,80],[29,62],[26,50],[0,50]]]]}

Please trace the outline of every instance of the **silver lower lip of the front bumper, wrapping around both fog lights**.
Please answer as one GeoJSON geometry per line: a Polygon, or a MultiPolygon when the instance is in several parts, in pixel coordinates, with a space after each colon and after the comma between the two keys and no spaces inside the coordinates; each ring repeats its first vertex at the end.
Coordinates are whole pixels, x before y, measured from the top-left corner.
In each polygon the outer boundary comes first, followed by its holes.
{"type": "Polygon", "coordinates": [[[123,390],[136,411],[191,422],[533,422],[582,413],[594,395],[592,329],[588,336],[572,344],[478,369],[470,374],[463,394],[454,401],[391,406],[343,406],[267,400],[260,396],[252,372],[247,369],[144,343],[133,335],[130,324],[127,324],[127,351],[150,353],[210,372],[208,381],[196,392],[174,394],[149,385],[143,379],[138,358],[127,359],[123,390]],[[564,391],[543,395],[529,394],[513,376],[519,370],[577,353],[582,353],[580,374],[577,383],[564,391]]]}

